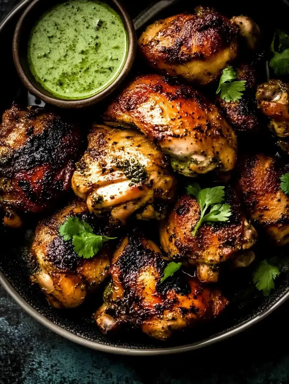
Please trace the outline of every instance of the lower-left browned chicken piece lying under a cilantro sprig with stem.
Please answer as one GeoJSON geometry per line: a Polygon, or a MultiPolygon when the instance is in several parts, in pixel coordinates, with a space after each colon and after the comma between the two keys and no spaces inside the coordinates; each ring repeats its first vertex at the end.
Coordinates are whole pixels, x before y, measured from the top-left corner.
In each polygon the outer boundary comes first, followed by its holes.
{"type": "Polygon", "coordinates": [[[105,244],[94,257],[84,259],[73,250],[71,241],[63,240],[59,226],[71,216],[91,225],[97,235],[111,234],[81,200],[74,200],[38,223],[31,246],[38,268],[31,279],[40,285],[48,303],[56,308],[81,305],[87,293],[96,290],[106,278],[110,264],[109,244],[105,244]]]}

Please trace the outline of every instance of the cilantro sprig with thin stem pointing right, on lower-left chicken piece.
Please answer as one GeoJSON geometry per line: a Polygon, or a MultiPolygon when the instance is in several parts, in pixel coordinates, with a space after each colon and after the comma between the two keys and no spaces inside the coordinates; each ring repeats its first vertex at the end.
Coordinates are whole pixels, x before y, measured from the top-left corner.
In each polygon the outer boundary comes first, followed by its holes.
{"type": "Polygon", "coordinates": [[[68,217],[59,227],[59,234],[64,241],[72,240],[74,251],[86,259],[96,255],[104,242],[116,238],[95,235],[92,227],[78,217],[68,217]]]}

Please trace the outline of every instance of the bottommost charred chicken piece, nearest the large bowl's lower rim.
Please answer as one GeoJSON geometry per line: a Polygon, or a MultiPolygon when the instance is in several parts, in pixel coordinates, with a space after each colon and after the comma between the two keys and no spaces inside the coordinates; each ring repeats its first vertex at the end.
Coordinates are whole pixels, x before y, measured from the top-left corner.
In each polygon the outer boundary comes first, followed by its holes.
{"type": "Polygon", "coordinates": [[[166,340],[174,331],[218,316],[228,304],[219,290],[201,286],[181,270],[161,282],[166,266],[159,247],[137,230],[124,238],[112,259],[104,304],[95,316],[102,332],[130,325],[166,340]]]}

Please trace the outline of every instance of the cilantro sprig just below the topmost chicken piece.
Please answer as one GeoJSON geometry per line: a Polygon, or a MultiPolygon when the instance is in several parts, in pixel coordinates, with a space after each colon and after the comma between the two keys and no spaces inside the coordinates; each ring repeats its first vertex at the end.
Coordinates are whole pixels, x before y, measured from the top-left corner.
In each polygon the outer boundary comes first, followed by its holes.
{"type": "Polygon", "coordinates": [[[221,99],[225,101],[238,101],[243,96],[246,80],[236,81],[237,72],[233,67],[223,69],[216,94],[221,92],[221,99]]]}

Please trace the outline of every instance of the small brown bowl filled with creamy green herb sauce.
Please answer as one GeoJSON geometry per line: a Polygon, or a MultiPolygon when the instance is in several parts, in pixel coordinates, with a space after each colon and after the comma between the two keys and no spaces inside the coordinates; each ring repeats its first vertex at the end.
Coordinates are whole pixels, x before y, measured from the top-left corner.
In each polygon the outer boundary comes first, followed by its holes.
{"type": "Polygon", "coordinates": [[[14,63],[26,88],[62,108],[108,96],[132,67],[135,48],[134,26],[117,0],[34,0],[13,37],[14,63]]]}

